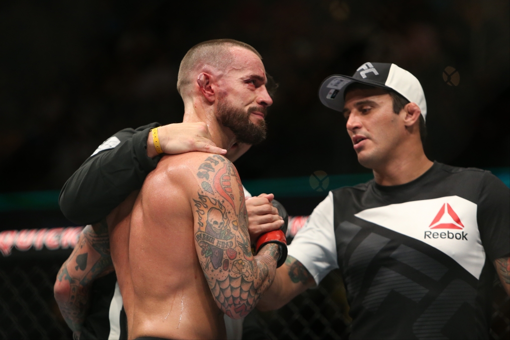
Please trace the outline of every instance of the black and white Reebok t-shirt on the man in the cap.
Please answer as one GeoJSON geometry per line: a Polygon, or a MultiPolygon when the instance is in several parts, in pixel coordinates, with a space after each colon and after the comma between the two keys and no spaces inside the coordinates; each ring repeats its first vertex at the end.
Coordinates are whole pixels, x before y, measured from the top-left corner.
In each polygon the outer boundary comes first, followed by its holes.
{"type": "Polygon", "coordinates": [[[510,190],[434,163],[397,186],[333,190],[289,255],[320,281],[340,268],[351,339],[489,338],[493,261],[510,253],[510,190]]]}

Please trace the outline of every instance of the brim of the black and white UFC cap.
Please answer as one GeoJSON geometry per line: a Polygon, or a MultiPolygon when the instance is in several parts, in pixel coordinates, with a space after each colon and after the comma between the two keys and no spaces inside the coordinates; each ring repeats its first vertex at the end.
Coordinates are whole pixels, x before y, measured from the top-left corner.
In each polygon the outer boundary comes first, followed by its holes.
{"type": "Polygon", "coordinates": [[[321,103],[330,109],[342,112],[345,104],[345,89],[352,83],[360,83],[391,90],[390,87],[371,80],[360,80],[348,76],[332,75],[324,79],[324,81],[320,84],[319,99],[321,103]]]}

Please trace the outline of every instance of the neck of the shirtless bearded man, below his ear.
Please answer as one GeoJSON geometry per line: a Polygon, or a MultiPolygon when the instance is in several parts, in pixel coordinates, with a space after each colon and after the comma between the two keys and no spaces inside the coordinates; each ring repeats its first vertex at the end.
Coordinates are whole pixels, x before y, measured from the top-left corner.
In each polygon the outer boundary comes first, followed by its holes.
{"type": "Polygon", "coordinates": [[[234,133],[218,122],[215,114],[216,105],[204,107],[202,104],[203,103],[197,103],[197,101],[189,105],[185,104],[183,123],[206,123],[212,141],[216,146],[226,150],[230,149],[232,144],[236,142],[234,133]]]}

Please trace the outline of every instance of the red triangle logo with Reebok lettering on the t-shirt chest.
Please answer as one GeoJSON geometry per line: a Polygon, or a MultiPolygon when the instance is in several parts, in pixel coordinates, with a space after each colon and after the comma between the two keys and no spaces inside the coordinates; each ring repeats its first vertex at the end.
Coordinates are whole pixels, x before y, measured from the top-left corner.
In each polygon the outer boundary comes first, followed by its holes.
{"type": "MultiPolygon", "coordinates": [[[[436,217],[428,226],[430,229],[464,229],[461,219],[455,213],[449,203],[443,204],[436,217]]],[[[462,231],[461,233],[447,232],[431,232],[425,231],[424,238],[449,238],[449,239],[462,239],[468,240],[468,233],[462,231]]]]}

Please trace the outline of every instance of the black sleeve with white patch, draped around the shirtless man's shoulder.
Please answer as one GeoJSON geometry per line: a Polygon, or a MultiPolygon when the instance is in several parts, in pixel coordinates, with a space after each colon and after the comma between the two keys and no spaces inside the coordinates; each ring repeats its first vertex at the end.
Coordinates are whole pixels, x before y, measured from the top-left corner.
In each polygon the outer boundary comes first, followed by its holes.
{"type": "Polygon", "coordinates": [[[99,145],[60,191],[60,209],[69,221],[99,222],[142,186],[161,158],[147,156],[149,130],[158,126],[124,129],[99,145]]]}

